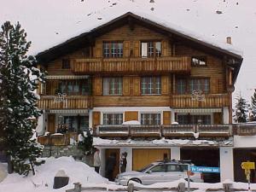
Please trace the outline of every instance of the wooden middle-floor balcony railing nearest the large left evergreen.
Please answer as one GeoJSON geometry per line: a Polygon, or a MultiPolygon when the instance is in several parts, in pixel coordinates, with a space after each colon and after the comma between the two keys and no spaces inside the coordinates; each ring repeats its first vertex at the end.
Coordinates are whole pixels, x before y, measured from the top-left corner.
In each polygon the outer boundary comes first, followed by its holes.
{"type": "Polygon", "coordinates": [[[91,96],[67,96],[65,102],[55,102],[55,96],[41,96],[38,108],[42,109],[84,109],[92,108],[91,96]]]}

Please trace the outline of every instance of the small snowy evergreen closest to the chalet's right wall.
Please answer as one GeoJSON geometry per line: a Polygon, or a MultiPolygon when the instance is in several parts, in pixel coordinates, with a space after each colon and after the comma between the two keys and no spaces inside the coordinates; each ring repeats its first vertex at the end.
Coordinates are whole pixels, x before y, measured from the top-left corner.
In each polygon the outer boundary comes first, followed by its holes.
{"type": "Polygon", "coordinates": [[[236,108],[234,119],[236,123],[247,122],[248,105],[246,100],[242,96],[236,97],[236,108]]]}

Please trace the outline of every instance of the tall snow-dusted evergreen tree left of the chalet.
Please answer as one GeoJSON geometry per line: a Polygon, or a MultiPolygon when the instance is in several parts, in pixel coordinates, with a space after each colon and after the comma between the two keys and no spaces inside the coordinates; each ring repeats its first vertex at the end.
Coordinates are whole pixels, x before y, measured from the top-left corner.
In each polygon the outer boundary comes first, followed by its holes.
{"type": "Polygon", "coordinates": [[[26,32],[6,21],[0,31],[0,127],[3,128],[5,151],[15,172],[35,174],[33,166],[42,154],[42,146],[33,137],[41,111],[37,108],[38,82],[44,73],[35,67],[35,57],[26,55],[31,42],[26,32]]]}

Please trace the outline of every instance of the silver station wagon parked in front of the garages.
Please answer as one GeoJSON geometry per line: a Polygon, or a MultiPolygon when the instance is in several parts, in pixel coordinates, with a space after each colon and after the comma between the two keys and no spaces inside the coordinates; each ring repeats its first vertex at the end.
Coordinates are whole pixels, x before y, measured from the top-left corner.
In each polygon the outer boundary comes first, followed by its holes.
{"type": "MultiPolygon", "coordinates": [[[[192,166],[192,164],[190,164],[192,166]]],[[[115,183],[121,185],[127,185],[130,181],[143,184],[172,182],[180,178],[188,180],[187,171],[188,163],[182,161],[157,161],[148,166],[145,166],[142,170],[137,172],[123,172],[120,173],[115,183]]],[[[204,182],[201,172],[192,172],[189,174],[190,181],[192,182],[204,182]]]]}

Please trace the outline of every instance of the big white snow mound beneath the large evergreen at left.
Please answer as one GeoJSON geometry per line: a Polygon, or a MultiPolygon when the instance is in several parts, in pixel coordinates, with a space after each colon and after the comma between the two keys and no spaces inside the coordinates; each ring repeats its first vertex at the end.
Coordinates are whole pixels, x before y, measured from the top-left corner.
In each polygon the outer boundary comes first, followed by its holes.
{"type": "Polygon", "coordinates": [[[72,157],[61,157],[58,159],[49,158],[42,166],[36,166],[36,175],[30,174],[28,177],[21,177],[18,174],[9,174],[2,183],[0,191],[8,192],[37,192],[52,191],[55,174],[59,170],[66,172],[69,177],[69,184],[61,189],[54,189],[55,192],[63,192],[66,189],[73,189],[73,183],[82,183],[86,186],[89,183],[108,183],[94,171],[93,167],[87,166],[82,162],[73,160],[72,157]]]}

